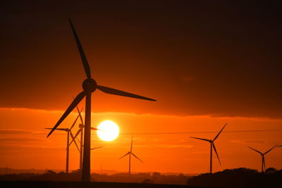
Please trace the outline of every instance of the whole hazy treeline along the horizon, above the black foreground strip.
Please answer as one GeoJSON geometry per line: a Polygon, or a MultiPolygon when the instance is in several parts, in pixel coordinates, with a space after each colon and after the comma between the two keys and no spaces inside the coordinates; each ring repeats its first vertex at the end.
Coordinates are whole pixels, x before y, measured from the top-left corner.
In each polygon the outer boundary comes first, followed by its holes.
{"type": "MultiPolygon", "coordinates": [[[[0,181],[80,181],[78,170],[72,173],[56,173],[47,170],[45,173],[20,173],[0,175],[0,181]]],[[[137,182],[146,184],[187,184],[197,187],[282,187],[282,170],[266,169],[265,173],[248,168],[223,170],[213,174],[163,175],[161,173],[137,173],[128,175],[118,173],[114,175],[92,173],[92,182],[137,182]]]]}

